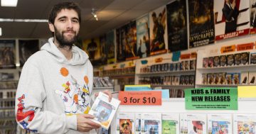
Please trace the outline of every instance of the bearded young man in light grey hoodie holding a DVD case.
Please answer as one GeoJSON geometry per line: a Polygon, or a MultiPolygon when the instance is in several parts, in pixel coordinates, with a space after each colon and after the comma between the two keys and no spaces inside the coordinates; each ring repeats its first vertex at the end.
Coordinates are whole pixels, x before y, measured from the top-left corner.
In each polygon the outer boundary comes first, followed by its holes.
{"type": "MultiPolygon", "coordinates": [[[[53,6],[48,19],[53,38],[23,66],[16,92],[16,121],[26,133],[80,133],[100,125],[90,121],[93,69],[73,45],[80,29],[73,2],[53,6]]],[[[112,98],[109,91],[105,94],[112,98]]]]}

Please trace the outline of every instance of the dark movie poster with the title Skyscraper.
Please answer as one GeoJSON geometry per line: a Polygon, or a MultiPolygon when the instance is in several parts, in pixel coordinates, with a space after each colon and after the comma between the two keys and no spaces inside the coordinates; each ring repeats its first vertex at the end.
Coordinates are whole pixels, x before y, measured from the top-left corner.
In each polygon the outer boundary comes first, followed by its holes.
{"type": "Polygon", "coordinates": [[[188,1],[189,48],[214,43],[213,0],[188,1]]]}

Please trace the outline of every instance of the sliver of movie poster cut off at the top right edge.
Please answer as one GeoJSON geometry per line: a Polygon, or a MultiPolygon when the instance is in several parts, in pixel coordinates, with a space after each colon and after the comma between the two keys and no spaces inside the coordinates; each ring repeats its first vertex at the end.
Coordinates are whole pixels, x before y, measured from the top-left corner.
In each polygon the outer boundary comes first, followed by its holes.
{"type": "Polygon", "coordinates": [[[250,34],[256,33],[256,0],[250,0],[250,34]]]}

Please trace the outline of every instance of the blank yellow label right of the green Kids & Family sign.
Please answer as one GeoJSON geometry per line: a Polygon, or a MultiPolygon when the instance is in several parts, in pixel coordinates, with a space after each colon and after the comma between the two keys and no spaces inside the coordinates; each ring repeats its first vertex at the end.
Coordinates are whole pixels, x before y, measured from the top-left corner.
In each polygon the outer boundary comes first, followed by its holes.
{"type": "Polygon", "coordinates": [[[256,86],[238,86],[238,97],[256,98],[256,86]]]}

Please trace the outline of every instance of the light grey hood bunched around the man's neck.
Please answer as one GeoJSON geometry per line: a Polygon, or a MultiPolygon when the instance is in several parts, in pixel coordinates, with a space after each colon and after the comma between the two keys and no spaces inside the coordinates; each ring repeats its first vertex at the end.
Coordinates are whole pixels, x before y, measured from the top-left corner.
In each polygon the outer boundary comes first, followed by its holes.
{"type": "Polygon", "coordinates": [[[50,55],[57,61],[66,65],[84,65],[88,60],[88,55],[73,45],[72,53],[73,57],[71,60],[67,60],[60,50],[58,50],[57,46],[53,43],[53,38],[49,38],[48,43],[41,47],[41,50],[45,50],[50,53],[50,55]]]}

